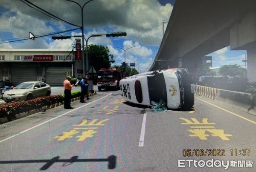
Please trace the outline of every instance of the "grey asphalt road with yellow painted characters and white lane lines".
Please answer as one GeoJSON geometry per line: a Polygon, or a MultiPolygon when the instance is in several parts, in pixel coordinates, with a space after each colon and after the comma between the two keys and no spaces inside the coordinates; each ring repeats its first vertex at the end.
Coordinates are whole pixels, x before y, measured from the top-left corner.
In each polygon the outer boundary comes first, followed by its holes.
{"type": "Polygon", "coordinates": [[[71,106],[0,125],[0,171],[256,171],[256,116],[230,105],[195,96],[189,111],[157,113],[103,91],[71,106]]]}

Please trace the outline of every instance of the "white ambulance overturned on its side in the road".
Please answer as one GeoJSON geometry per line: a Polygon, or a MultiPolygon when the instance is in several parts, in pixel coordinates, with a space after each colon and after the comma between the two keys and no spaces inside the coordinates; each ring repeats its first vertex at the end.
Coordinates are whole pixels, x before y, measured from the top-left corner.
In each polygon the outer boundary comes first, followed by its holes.
{"type": "Polygon", "coordinates": [[[152,106],[162,100],[169,109],[191,109],[194,105],[194,85],[187,69],[166,69],[145,72],[120,80],[125,100],[152,106]],[[153,101],[153,102],[152,102],[153,101]]]}

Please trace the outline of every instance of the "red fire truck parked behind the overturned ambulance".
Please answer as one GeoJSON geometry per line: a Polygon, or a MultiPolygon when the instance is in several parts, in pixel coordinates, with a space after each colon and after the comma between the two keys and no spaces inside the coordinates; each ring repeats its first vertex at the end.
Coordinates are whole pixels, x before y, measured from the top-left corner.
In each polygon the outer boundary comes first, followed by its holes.
{"type": "Polygon", "coordinates": [[[119,89],[119,81],[122,79],[121,71],[116,68],[100,69],[97,77],[99,92],[102,89],[119,89]]]}

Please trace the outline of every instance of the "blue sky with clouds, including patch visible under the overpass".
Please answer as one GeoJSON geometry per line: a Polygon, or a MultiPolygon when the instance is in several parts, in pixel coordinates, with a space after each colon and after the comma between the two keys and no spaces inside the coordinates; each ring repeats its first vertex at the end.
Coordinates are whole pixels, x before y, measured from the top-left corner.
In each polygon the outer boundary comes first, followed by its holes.
{"type": "MultiPolygon", "coordinates": [[[[29,1],[63,20],[81,26],[81,9],[75,3],[66,0],[29,1]]],[[[75,1],[81,5],[86,2],[75,1]]],[[[162,22],[169,21],[174,4],[175,0],[93,0],[84,7],[85,37],[91,34],[127,32],[126,37],[91,37],[88,44],[108,46],[116,60],[113,65],[124,61],[124,51],[117,47],[128,49],[135,46],[126,51],[126,63],[135,62],[139,72],[148,71],[163,37],[162,22]]],[[[40,13],[21,0],[0,0],[0,23],[0,41],[28,37],[29,32],[41,35],[76,28],[40,13]]],[[[64,34],[81,34],[81,30],[64,34]]],[[[47,36],[0,44],[0,49],[68,50],[73,42],[73,37],[68,40],[52,40],[51,36],[47,36]]],[[[244,66],[244,62],[241,62],[244,53],[230,51],[229,47],[208,55],[212,56],[213,67],[233,63],[244,66]]]]}

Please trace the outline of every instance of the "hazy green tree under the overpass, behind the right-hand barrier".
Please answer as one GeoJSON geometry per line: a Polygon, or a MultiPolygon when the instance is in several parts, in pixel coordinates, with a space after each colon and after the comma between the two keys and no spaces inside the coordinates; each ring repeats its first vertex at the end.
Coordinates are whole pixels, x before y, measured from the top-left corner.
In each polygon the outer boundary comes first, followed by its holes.
{"type": "Polygon", "coordinates": [[[246,69],[241,68],[239,65],[224,65],[219,69],[219,74],[224,77],[246,77],[246,69]]]}

